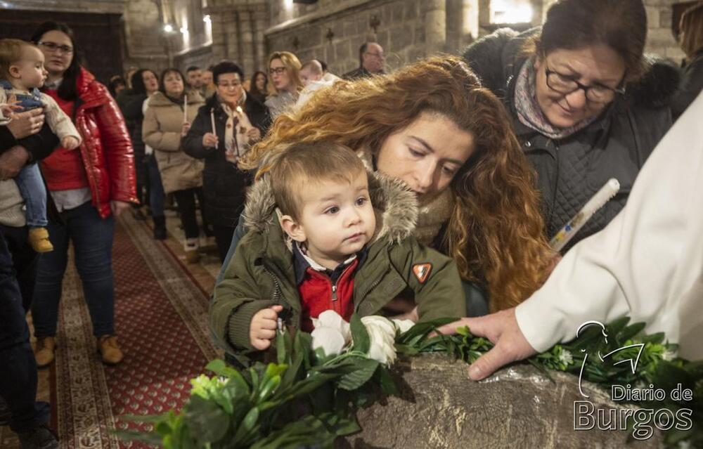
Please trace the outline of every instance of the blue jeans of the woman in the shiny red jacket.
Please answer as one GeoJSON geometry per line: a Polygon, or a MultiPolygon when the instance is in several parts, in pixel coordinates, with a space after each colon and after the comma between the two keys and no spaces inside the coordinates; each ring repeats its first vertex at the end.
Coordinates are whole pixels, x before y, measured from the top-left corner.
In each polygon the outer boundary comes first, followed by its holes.
{"type": "Polygon", "coordinates": [[[56,335],[58,304],[63,275],[68,263],[69,242],[73,243],[75,263],[88,304],[93,334],[115,333],[115,288],[112,282],[112,238],[115,219],[102,219],[90,202],[60,213],[65,224],[49,223],[53,251],[39,259],[34,287],[32,318],[37,338],[56,335]]]}

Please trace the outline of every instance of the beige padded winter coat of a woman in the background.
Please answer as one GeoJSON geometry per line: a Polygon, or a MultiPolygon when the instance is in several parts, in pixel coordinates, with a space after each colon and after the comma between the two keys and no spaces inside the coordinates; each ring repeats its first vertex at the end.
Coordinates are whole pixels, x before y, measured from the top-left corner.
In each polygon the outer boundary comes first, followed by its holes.
{"type": "MultiPolygon", "coordinates": [[[[188,93],[188,122],[193,123],[203,104],[205,101],[198,93],[188,93]]],[[[181,151],[182,126],[182,103],[174,103],[161,92],[151,96],[144,113],[142,138],[154,149],[166,193],[202,186],[205,163],[181,151]]]]}

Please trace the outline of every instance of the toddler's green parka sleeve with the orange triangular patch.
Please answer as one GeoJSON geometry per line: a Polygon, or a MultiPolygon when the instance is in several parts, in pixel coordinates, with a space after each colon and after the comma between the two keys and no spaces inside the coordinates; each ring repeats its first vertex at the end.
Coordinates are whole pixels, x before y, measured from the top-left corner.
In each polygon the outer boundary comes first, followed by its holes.
{"type": "Polygon", "coordinates": [[[392,249],[391,263],[415,292],[420,321],[466,316],[466,301],[456,263],[414,237],[392,249]]]}

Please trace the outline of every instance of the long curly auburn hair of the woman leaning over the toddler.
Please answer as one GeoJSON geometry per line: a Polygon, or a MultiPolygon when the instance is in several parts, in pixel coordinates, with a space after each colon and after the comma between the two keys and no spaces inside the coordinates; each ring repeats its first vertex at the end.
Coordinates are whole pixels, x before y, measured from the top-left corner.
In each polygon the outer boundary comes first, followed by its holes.
{"type": "Polygon", "coordinates": [[[435,56],[386,77],[321,89],[301,109],[280,115],[240,165],[257,168],[269,151],[299,142],[329,141],[375,154],[421,112],[450,119],[475,141],[450,184],[455,205],[445,233],[449,255],[465,280],[486,282],[492,311],[520,304],[544,282],[555,253],[510,117],[460,58],[435,56]]]}

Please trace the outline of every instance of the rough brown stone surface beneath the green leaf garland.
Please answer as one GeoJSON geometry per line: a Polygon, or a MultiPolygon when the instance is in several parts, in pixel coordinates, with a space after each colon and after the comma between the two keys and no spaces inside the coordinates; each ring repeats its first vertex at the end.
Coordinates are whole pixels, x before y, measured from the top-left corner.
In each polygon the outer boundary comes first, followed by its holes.
{"type": "MultiPolygon", "coordinates": [[[[340,448],[657,448],[661,434],[626,446],[628,431],[575,431],[578,379],[530,365],[499,371],[483,382],[467,365],[445,356],[420,356],[394,367],[400,397],[358,413],[363,431],[340,448]]],[[[595,408],[624,408],[585,384],[595,408]]]]}

